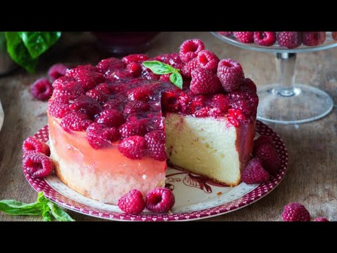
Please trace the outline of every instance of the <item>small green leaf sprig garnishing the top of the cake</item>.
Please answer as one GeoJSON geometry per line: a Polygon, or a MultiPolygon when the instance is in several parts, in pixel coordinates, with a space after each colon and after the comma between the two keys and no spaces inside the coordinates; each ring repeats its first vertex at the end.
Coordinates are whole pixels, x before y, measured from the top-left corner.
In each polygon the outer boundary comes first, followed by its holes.
{"type": "Polygon", "coordinates": [[[143,65],[154,72],[154,74],[170,74],[170,81],[179,89],[183,89],[183,77],[175,67],[161,63],[158,60],[145,61],[143,65]]]}

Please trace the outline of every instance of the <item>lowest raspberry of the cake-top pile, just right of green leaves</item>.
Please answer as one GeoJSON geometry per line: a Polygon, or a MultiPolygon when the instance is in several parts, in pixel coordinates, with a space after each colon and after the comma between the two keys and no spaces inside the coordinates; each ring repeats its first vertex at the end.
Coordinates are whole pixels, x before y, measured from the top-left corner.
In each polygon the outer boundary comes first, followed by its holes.
{"type": "Polygon", "coordinates": [[[195,94],[213,94],[221,88],[216,74],[209,70],[197,68],[192,70],[190,89],[195,94]]]}

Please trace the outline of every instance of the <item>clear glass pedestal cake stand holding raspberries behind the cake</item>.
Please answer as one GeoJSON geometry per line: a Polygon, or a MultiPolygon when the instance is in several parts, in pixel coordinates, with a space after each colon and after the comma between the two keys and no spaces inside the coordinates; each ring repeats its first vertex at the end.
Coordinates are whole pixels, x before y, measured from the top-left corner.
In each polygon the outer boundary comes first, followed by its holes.
{"type": "Polygon", "coordinates": [[[240,48],[275,53],[277,65],[277,83],[258,89],[258,119],[280,124],[300,124],[320,119],[331,112],[333,100],[324,91],[307,84],[294,82],[296,53],[305,53],[333,48],[337,41],[326,32],[324,44],[318,46],[304,46],[285,48],[273,46],[259,46],[243,44],[234,37],[225,37],[217,32],[211,32],[215,37],[228,44],[240,48]]]}

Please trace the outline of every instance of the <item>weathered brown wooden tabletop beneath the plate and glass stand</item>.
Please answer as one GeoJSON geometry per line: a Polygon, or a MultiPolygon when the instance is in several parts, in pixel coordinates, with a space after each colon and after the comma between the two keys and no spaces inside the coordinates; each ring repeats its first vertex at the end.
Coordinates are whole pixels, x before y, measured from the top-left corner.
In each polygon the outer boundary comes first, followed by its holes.
{"type": "MultiPolygon", "coordinates": [[[[90,36],[81,44],[65,49],[54,48],[41,60],[36,74],[17,70],[0,78],[0,100],[5,120],[0,131],[0,200],[15,199],[34,202],[37,193],[22,174],[22,141],[47,124],[46,102],[32,99],[29,84],[45,77],[48,67],[56,62],[98,63],[108,55],[100,51],[90,36]],[[57,50],[60,49],[61,50],[57,50]]],[[[147,53],[177,51],[185,39],[203,39],[206,46],[220,58],[234,58],[242,63],[244,72],[258,86],[275,80],[275,60],[270,53],[240,49],[219,41],[209,32],[163,32],[147,53]]],[[[337,102],[337,49],[298,55],[296,80],[319,86],[337,102]]],[[[289,171],[284,181],[262,200],[230,214],[205,221],[281,221],[284,205],[300,202],[312,216],[326,216],[337,221],[337,113],[336,106],[324,119],[300,125],[269,124],[286,143],[289,171]]],[[[69,211],[77,221],[103,221],[69,211]]],[[[0,221],[41,221],[35,216],[7,216],[0,221]]]]}

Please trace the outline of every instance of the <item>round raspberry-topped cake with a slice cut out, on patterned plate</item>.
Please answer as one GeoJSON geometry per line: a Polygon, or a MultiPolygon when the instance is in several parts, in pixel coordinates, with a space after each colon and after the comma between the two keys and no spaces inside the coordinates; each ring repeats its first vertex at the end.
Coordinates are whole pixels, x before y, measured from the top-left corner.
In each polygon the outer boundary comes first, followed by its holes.
{"type": "Polygon", "coordinates": [[[80,65],[53,87],[48,126],[56,174],[95,200],[117,204],[132,189],[146,195],[164,186],[166,162],[236,186],[251,158],[256,86],[239,63],[219,60],[199,39],[185,41],[179,53],[80,65]],[[181,86],[173,73],[181,73],[181,86]]]}

